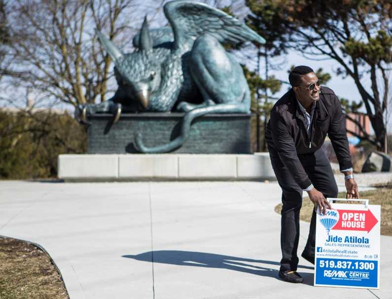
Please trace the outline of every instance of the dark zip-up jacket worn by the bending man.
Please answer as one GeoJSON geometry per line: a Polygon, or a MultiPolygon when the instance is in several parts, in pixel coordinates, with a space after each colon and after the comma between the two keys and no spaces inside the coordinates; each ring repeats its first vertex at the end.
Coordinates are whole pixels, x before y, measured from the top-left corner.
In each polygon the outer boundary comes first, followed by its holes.
{"type": "Polygon", "coordinates": [[[335,93],[327,87],[321,87],[311,132],[312,140],[309,140],[305,117],[298,107],[291,88],[272,108],[265,130],[265,140],[272,158],[279,155],[302,189],[308,188],[312,182],[301,165],[298,155],[316,152],[324,143],[326,134],[332,142],[340,170],[353,167],[343,125],[342,107],[335,93]]]}

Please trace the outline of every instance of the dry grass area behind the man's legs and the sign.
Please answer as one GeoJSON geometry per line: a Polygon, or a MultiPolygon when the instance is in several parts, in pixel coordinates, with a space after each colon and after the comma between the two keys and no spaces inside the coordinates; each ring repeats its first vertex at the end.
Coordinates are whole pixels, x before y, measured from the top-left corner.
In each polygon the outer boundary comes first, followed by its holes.
{"type": "MultiPolygon", "coordinates": [[[[344,199],[345,192],[339,193],[338,198],[344,199]]],[[[361,199],[369,199],[369,204],[381,205],[381,234],[392,236],[392,186],[378,187],[374,191],[360,192],[361,199]]],[[[310,222],[314,204],[310,199],[304,198],[301,208],[301,220],[310,222]]],[[[282,203],[275,207],[277,213],[281,213],[282,203]]]]}

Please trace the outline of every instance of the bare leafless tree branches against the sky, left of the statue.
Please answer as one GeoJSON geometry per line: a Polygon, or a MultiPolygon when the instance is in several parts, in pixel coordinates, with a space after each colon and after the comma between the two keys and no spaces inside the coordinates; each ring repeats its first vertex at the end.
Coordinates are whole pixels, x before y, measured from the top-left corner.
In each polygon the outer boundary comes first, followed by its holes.
{"type": "Polygon", "coordinates": [[[7,76],[3,84],[73,106],[103,101],[110,92],[112,68],[94,29],[132,49],[144,15],[161,5],[160,0],[149,6],[140,0],[8,1],[10,67],[5,71],[0,65],[7,76]]]}

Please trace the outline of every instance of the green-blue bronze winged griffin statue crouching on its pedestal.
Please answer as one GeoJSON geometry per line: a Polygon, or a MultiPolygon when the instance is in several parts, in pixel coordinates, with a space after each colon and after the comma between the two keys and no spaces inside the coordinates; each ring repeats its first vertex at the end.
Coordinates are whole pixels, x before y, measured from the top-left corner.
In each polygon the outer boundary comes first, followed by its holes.
{"type": "Polygon", "coordinates": [[[149,30],[146,18],[134,39],[137,51],[124,54],[102,33],[98,37],[115,67],[118,90],[100,104],[80,104],[79,122],[88,115],[173,110],[186,112],[180,134],[167,144],[145,147],[142,135],[135,144],[142,153],[166,153],[189,136],[192,121],[208,113],[249,113],[250,91],[240,64],[222,44],[265,40],[239,20],[207,4],[171,1],[164,5],[171,27],[149,30]],[[198,102],[199,100],[199,102],[198,102]]]}

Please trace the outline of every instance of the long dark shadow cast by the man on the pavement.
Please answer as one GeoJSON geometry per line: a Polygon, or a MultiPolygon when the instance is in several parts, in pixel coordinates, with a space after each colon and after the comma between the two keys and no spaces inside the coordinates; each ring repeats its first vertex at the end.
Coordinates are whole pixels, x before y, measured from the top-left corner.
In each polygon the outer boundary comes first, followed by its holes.
{"type": "MultiPolygon", "coordinates": [[[[238,257],[219,255],[214,253],[161,250],[149,251],[138,255],[124,255],[124,258],[144,262],[170,264],[178,266],[196,266],[207,268],[221,268],[255,275],[278,278],[278,269],[268,265],[280,266],[279,262],[252,260],[238,257]],[[262,264],[260,266],[255,264],[262,264]]],[[[313,267],[299,266],[301,268],[313,269],[313,267]]],[[[279,278],[280,279],[280,278],[279,278]]]]}

